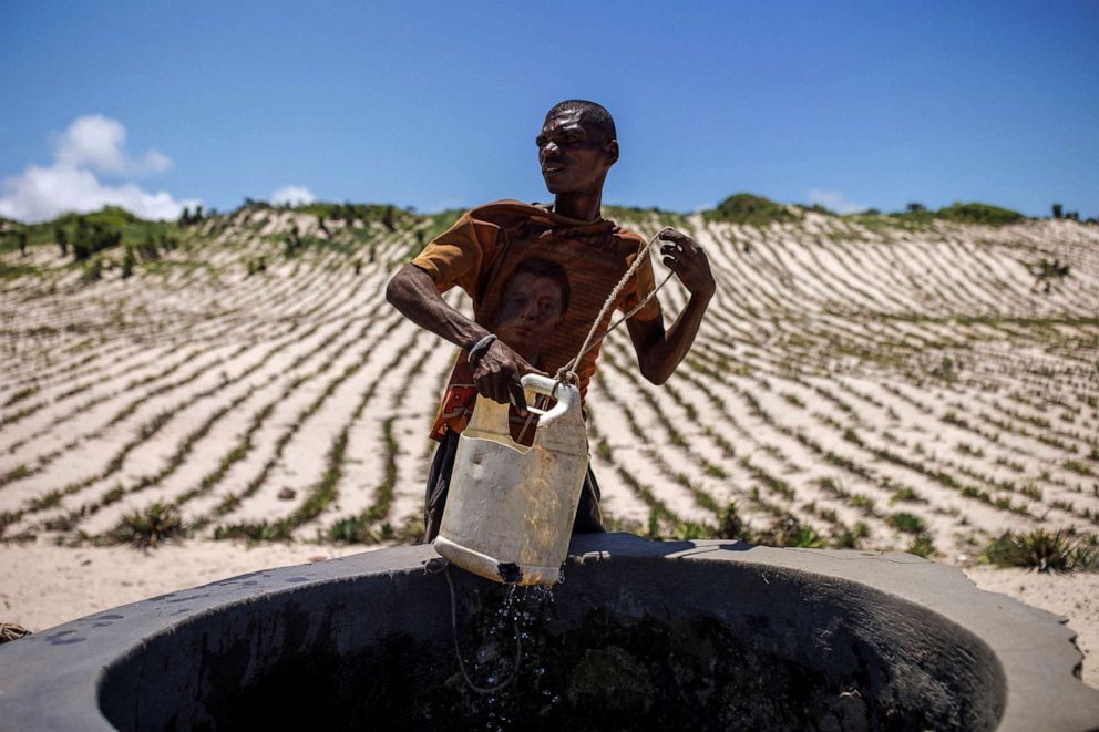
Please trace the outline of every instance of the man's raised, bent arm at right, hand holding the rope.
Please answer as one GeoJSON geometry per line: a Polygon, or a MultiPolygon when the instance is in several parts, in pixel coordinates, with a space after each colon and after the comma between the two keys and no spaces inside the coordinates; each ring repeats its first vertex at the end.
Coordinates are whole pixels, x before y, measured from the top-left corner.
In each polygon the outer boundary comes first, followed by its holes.
{"type": "Polygon", "coordinates": [[[694,239],[671,229],[663,231],[660,239],[665,241],[660,247],[664,264],[690,292],[690,300],[667,330],[659,317],[648,321],[636,318],[626,321],[641,375],[655,384],[666,382],[690,351],[706,307],[717,289],[706,252],[694,239]]]}

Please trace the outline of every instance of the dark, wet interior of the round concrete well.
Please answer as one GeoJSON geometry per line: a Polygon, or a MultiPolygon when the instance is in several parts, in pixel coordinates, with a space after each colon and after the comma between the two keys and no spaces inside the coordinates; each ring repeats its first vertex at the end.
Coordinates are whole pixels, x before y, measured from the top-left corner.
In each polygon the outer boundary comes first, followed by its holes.
{"type": "Polygon", "coordinates": [[[569,565],[551,600],[450,574],[475,682],[525,635],[503,691],[466,688],[445,579],[417,570],[195,617],[111,666],[100,707],[122,730],[989,730],[1003,711],[984,643],[861,585],[615,558],[569,565]]]}

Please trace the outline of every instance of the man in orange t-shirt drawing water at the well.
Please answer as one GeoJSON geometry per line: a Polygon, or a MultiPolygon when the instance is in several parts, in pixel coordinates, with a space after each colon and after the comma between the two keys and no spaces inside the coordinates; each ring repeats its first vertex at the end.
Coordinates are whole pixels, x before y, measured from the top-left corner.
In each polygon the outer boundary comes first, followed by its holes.
{"type": "MultiPolygon", "coordinates": [[[[500,403],[512,402],[520,416],[526,415],[520,378],[540,369],[486,326],[497,320],[503,283],[532,256],[556,261],[568,272],[573,303],[553,332],[543,333],[541,370],[553,373],[576,354],[604,300],[645,246],[638,235],[600,217],[603,185],[618,161],[614,120],[604,107],[582,100],[562,102],[546,114],[535,142],[542,177],[554,195],[553,205],[503,200],[468,212],[398,271],[387,290],[389,301],[405,317],[462,348],[452,385],[468,367],[477,393],[500,403]],[[441,293],[454,285],[473,298],[473,320],[443,300],[441,293]]],[[[665,241],[660,247],[664,264],[691,297],[667,330],[655,298],[626,322],[641,375],[655,384],[667,381],[690,350],[715,291],[706,255],[690,237],[668,230],[660,238],[665,241]]],[[[654,287],[653,267],[646,260],[615,305],[629,311],[654,287]]],[[[598,334],[608,326],[609,317],[599,323],[598,334]]],[[[582,394],[595,373],[597,358],[598,347],[575,368],[582,394]]],[[[462,426],[446,420],[449,408],[444,400],[432,430],[441,444],[428,480],[428,542],[439,532],[462,426]]],[[[574,533],[604,530],[598,502],[598,484],[588,470],[574,533]]]]}

